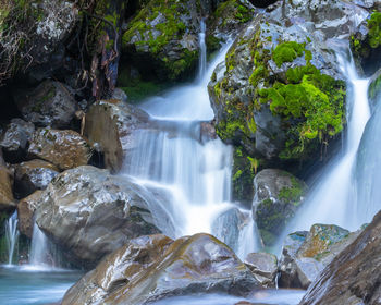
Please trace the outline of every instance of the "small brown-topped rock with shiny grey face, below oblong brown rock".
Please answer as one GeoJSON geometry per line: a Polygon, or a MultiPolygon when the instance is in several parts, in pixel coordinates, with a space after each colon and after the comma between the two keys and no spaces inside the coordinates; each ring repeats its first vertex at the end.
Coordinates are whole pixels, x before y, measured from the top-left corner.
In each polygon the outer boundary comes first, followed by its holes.
{"type": "Polygon", "coordinates": [[[45,190],[58,175],[59,169],[44,160],[30,160],[14,167],[14,192],[26,197],[37,190],[45,190]]]}

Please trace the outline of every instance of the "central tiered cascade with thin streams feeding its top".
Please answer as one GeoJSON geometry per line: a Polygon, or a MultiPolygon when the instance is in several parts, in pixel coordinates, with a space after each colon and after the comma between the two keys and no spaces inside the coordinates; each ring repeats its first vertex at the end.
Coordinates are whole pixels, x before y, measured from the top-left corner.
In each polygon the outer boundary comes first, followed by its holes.
{"type": "MultiPolygon", "coordinates": [[[[136,149],[125,160],[124,173],[149,190],[161,202],[172,225],[161,225],[172,237],[199,232],[214,233],[241,256],[254,252],[249,211],[239,211],[231,203],[232,149],[212,133],[213,119],[207,85],[230,46],[222,49],[207,69],[205,24],[201,24],[199,75],[195,83],[152,97],[140,107],[151,119],[151,127],[136,132],[136,149]],[[231,216],[221,217],[222,213],[231,216]],[[236,229],[219,235],[217,228],[228,228],[233,217],[236,229]],[[220,223],[219,223],[220,221],[220,223]],[[172,230],[173,229],[173,230],[172,230]],[[241,239],[242,243],[237,243],[241,239]],[[236,244],[244,244],[243,249],[236,244]]],[[[158,224],[160,227],[160,224],[158,224]]]]}

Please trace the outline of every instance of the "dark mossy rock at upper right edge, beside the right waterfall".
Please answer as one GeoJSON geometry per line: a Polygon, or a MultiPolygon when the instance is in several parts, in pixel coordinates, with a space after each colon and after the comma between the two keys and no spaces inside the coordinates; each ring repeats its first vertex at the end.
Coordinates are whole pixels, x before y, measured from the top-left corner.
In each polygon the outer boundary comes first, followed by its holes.
{"type": "Polygon", "coordinates": [[[373,11],[358,26],[351,36],[351,48],[365,74],[369,76],[374,73],[379,68],[374,62],[381,60],[381,10],[373,11]]]}

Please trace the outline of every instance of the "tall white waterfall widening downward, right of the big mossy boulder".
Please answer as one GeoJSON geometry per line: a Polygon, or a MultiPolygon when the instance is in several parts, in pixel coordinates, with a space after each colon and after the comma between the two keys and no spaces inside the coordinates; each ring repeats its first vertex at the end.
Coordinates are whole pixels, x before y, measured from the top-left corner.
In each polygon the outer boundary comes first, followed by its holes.
{"type": "MultiPolygon", "coordinates": [[[[360,139],[370,118],[368,80],[361,80],[353,62],[339,57],[343,74],[347,75],[347,129],[343,154],[332,160],[312,185],[303,208],[286,233],[309,230],[314,223],[337,224],[357,230],[364,219],[355,212],[355,167],[360,139]]],[[[284,236],[281,236],[283,240],[284,236]]]]}

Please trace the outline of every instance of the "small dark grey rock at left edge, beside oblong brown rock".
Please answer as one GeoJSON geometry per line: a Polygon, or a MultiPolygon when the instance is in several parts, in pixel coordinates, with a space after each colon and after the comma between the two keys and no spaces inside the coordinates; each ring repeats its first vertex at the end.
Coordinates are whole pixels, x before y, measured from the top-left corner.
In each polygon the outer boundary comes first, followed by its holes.
{"type": "Polygon", "coordinates": [[[26,156],[35,125],[21,119],[12,119],[1,135],[0,146],[8,162],[17,162],[26,156]]]}

